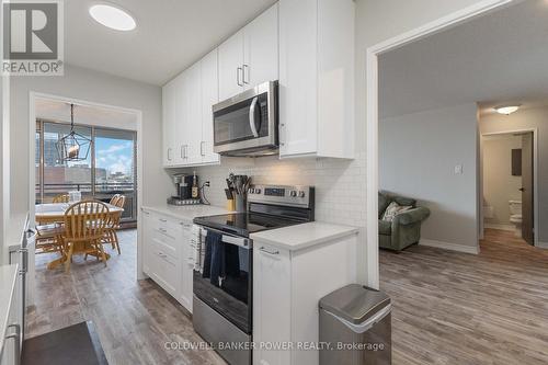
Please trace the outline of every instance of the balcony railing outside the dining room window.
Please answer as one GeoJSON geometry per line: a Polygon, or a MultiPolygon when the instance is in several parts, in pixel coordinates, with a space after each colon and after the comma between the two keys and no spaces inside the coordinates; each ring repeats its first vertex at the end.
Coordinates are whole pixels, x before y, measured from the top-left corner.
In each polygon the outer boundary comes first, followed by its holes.
{"type": "Polygon", "coordinates": [[[35,184],[36,204],[52,203],[55,196],[70,191],[81,192],[82,198],[94,198],[105,203],[109,203],[115,194],[123,194],[126,196],[126,203],[122,220],[127,223],[137,220],[137,192],[134,183],[98,183],[94,193],[91,183],[44,184],[43,192],[41,192],[41,185],[35,184]]]}

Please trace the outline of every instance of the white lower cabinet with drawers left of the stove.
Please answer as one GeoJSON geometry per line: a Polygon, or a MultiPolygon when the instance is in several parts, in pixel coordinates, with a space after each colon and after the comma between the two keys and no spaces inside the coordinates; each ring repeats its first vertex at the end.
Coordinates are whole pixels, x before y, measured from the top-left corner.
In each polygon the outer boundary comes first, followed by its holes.
{"type": "Polygon", "coordinates": [[[192,223],[142,210],[142,271],[192,312],[192,223]]]}

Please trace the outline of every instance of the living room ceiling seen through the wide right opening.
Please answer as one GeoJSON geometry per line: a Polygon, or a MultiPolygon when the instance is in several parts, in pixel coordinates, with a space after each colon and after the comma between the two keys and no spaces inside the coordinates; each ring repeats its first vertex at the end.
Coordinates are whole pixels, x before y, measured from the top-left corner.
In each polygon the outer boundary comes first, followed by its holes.
{"type": "Polygon", "coordinates": [[[548,101],[548,1],[527,0],[380,56],[381,118],[548,101]]]}

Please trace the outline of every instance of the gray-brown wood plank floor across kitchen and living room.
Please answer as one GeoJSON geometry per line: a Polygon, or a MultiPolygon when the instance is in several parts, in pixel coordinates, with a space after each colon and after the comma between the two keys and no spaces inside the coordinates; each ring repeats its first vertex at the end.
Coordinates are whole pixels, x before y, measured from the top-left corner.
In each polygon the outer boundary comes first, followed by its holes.
{"type": "MultiPolygon", "coordinates": [[[[77,258],[70,274],[37,258],[37,306],[27,337],[92,320],[117,364],[225,364],[213,351],[167,351],[197,342],[180,305],[150,281],[136,281],[136,231],[105,269],[77,258]]],[[[393,301],[393,364],[548,364],[548,250],[488,230],[471,255],[411,247],[381,251],[381,289],[393,301]]]]}

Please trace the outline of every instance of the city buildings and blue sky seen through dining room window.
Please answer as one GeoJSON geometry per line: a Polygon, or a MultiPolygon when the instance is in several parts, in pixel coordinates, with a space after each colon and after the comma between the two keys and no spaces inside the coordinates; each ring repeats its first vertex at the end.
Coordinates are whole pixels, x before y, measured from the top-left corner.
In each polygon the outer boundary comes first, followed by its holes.
{"type": "Polygon", "coordinates": [[[57,142],[70,133],[70,125],[36,123],[36,203],[50,203],[54,196],[80,191],[84,198],[109,202],[114,194],[126,195],[125,220],[135,220],[136,134],[133,130],[75,126],[93,140],[88,157],[64,161],[57,142]]]}

